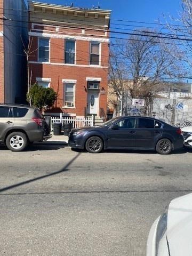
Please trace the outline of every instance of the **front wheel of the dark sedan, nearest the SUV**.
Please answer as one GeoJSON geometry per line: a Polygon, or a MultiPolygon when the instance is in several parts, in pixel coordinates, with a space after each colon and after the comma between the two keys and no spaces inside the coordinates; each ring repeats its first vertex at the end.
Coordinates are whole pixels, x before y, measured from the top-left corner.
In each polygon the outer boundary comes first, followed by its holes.
{"type": "Polygon", "coordinates": [[[89,153],[100,153],[103,149],[103,141],[99,137],[90,137],[85,143],[85,148],[89,153]]]}

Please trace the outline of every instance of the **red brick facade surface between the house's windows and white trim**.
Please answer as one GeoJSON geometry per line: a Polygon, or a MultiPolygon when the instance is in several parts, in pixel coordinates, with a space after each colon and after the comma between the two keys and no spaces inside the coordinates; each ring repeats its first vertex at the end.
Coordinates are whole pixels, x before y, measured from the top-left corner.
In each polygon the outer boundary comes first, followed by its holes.
{"type": "MultiPolygon", "coordinates": [[[[78,116],[84,115],[84,108],[87,106],[87,87],[86,77],[101,77],[100,89],[105,89],[106,94],[99,95],[99,108],[107,109],[107,88],[108,88],[108,69],[93,68],[88,66],[90,59],[90,42],[76,41],[76,64],[87,65],[87,67],[57,65],[64,63],[65,40],[59,38],[50,39],[50,56],[51,64],[31,63],[30,68],[33,70],[32,82],[36,82],[36,77],[51,78],[51,87],[58,92],[58,99],[55,111],[65,113],[74,113],[78,116]],[[62,108],[63,104],[63,84],[62,79],[77,80],[75,91],[75,109],[62,108]]],[[[37,49],[37,38],[33,37],[33,50],[37,49]]],[[[107,43],[101,43],[101,65],[108,66],[109,47],[107,43]]],[[[37,52],[33,53],[31,61],[37,61],[37,52]]],[[[100,114],[100,113],[99,113],[100,114]]]]}

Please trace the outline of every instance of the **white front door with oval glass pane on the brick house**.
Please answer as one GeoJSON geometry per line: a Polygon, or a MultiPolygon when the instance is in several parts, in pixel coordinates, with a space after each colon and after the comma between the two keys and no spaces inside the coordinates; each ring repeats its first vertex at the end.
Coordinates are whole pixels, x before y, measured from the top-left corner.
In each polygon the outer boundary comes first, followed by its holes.
{"type": "Polygon", "coordinates": [[[87,93],[87,114],[98,115],[99,90],[88,90],[87,93]]]}

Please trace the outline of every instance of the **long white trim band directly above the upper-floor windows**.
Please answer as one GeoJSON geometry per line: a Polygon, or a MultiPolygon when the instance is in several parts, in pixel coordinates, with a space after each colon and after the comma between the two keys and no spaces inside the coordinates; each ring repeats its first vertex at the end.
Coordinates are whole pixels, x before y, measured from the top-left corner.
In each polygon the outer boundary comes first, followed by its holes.
{"type": "Polygon", "coordinates": [[[29,31],[29,36],[59,38],[59,39],[73,39],[73,40],[109,43],[108,38],[86,37],[86,36],[69,36],[69,35],[60,35],[60,34],[51,34],[51,33],[38,33],[38,32],[31,32],[31,31],[29,31]]]}

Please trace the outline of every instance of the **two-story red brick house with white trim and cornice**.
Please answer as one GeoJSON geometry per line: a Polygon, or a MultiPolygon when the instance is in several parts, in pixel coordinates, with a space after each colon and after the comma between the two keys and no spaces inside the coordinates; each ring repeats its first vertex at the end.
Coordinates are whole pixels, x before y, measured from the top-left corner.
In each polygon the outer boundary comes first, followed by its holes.
{"type": "Polygon", "coordinates": [[[32,82],[58,93],[52,111],[106,113],[110,11],[29,2],[29,19],[32,82]]]}

